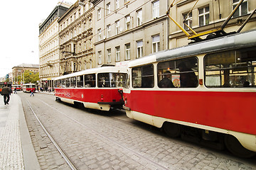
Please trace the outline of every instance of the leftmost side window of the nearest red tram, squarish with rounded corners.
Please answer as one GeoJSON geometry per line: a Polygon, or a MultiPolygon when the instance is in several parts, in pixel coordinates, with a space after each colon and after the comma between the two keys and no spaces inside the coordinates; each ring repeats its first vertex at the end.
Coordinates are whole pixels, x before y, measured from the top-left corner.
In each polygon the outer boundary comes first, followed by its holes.
{"type": "Polygon", "coordinates": [[[149,64],[132,69],[132,87],[152,88],[154,87],[154,66],[149,64]]]}

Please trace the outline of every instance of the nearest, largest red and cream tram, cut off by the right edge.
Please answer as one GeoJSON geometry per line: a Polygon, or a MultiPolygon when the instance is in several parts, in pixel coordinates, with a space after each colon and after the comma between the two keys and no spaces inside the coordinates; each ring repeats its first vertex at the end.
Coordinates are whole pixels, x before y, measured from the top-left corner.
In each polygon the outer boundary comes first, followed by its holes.
{"type": "Polygon", "coordinates": [[[255,35],[226,35],[129,62],[127,116],[171,137],[254,156],[255,35]]]}

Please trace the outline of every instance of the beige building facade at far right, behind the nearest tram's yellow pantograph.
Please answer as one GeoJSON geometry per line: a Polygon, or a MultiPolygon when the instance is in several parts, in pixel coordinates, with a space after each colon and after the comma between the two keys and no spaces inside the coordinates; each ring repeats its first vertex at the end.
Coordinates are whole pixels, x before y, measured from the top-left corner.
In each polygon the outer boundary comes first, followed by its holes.
{"type": "MultiPolygon", "coordinates": [[[[193,35],[191,30],[184,24],[193,28],[196,33],[203,33],[208,30],[220,28],[225,22],[233,8],[238,5],[240,0],[186,0],[180,1],[170,9],[170,16],[174,18],[189,34],[193,35]]],[[[171,2],[170,2],[171,3],[171,2]]],[[[245,19],[256,8],[256,1],[244,0],[238,10],[230,18],[230,21],[223,29],[226,33],[237,31],[245,19]]],[[[256,14],[250,18],[242,31],[256,28],[256,14]]],[[[206,38],[207,35],[202,36],[206,38]]],[[[188,44],[186,35],[176,24],[170,21],[169,26],[169,48],[181,47],[188,44]]]]}

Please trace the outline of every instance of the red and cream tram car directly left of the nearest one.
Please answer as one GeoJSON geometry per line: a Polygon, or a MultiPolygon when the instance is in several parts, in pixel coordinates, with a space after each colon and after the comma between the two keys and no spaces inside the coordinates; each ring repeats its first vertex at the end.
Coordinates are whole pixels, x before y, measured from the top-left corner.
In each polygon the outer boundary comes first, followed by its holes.
{"type": "Polygon", "coordinates": [[[127,69],[113,66],[64,75],[54,81],[55,98],[101,111],[122,108],[122,87],[126,77],[127,69]]]}

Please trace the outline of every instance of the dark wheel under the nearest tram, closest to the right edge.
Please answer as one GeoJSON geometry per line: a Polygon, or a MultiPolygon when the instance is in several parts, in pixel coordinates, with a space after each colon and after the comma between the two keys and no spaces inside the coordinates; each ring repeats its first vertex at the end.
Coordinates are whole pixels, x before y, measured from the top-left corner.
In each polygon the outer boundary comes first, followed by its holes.
{"type": "Polygon", "coordinates": [[[225,141],[225,146],[235,156],[242,157],[242,158],[250,158],[255,156],[256,154],[256,152],[252,152],[246,149],[245,147],[243,147],[238,141],[238,139],[233,135],[225,135],[224,141],[225,141]]]}

